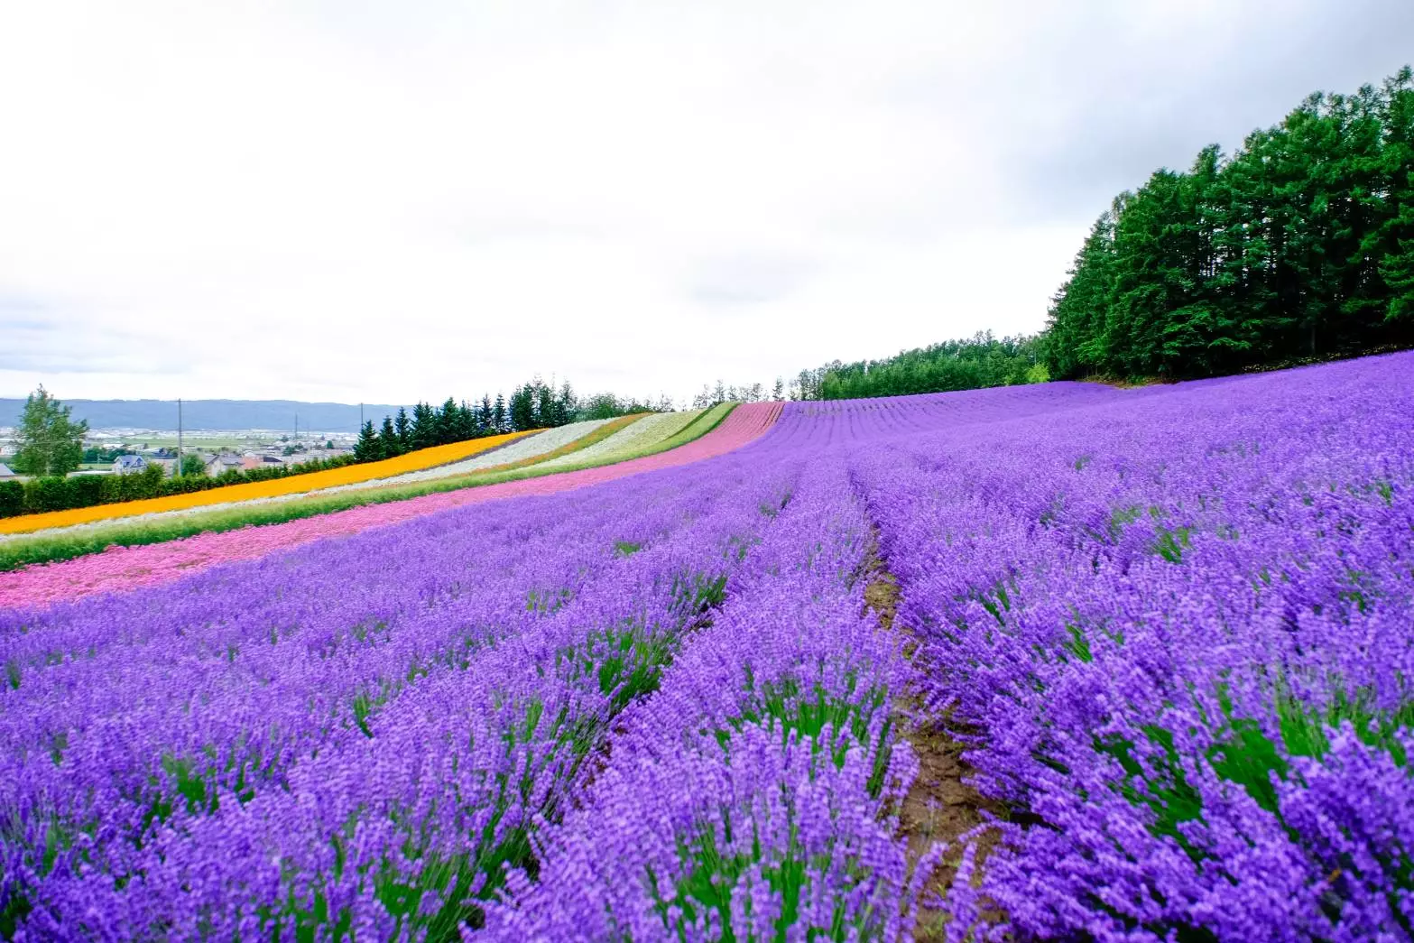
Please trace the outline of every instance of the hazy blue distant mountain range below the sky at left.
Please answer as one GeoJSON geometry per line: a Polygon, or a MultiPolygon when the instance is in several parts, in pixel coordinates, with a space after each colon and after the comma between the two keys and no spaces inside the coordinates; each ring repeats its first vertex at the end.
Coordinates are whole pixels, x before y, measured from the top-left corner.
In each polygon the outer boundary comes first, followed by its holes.
{"type": "MultiPolygon", "coordinates": [[[[74,418],[86,418],[89,428],[177,428],[177,400],[64,400],[74,418]]],[[[0,426],[18,426],[24,400],[0,399],[0,426]]],[[[300,428],[315,433],[356,433],[358,404],[300,403],[296,400],[182,400],[184,428],[300,428]]],[[[366,403],[363,417],[382,424],[396,406],[366,403]]]]}

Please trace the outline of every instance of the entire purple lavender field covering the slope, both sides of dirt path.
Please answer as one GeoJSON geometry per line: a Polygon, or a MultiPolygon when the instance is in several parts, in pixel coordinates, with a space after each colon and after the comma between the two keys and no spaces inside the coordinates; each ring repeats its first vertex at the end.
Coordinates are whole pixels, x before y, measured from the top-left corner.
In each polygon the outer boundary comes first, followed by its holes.
{"type": "Polygon", "coordinates": [[[4,937],[1410,939],[1414,356],[790,403],[0,662],[4,937]]]}

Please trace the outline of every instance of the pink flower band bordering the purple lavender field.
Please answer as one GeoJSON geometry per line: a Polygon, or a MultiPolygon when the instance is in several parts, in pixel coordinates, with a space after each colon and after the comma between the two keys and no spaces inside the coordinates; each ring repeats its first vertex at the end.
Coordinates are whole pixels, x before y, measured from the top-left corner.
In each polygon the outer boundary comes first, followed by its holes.
{"type": "Polygon", "coordinates": [[[635,458],[617,465],[508,481],[481,488],[464,488],[386,505],[363,505],[317,517],[240,527],[222,533],[204,533],[158,544],[109,547],[103,553],[86,557],[24,567],[0,574],[0,607],[44,605],[62,599],[76,599],[93,592],[120,592],[136,587],[170,582],[216,564],[252,560],[311,540],[354,534],[369,527],[395,525],[448,508],[522,495],[549,495],[659,468],[686,465],[723,455],[759,438],[779,416],[779,403],[745,403],[734,409],[721,426],[701,438],[658,455],[635,458]]]}

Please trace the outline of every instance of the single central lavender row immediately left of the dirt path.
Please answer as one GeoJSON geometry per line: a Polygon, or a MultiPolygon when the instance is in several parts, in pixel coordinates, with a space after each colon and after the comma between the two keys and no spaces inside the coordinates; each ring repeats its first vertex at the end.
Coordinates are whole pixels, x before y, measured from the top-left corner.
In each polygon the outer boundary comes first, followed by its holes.
{"type": "Polygon", "coordinates": [[[539,879],[513,877],[493,939],[773,939],[788,910],[800,939],[909,933],[919,881],[892,810],[916,762],[889,717],[912,677],[864,614],[870,525],[841,465],[772,458],[783,509],[537,833],[539,879]]]}

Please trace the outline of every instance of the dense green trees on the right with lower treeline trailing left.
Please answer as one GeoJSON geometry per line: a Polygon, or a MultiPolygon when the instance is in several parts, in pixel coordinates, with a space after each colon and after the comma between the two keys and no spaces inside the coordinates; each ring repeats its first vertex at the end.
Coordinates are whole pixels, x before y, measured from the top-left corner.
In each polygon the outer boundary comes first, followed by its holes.
{"type": "Polygon", "coordinates": [[[1414,75],[1308,96],[1114,198],[1044,331],[800,370],[790,399],[1196,379],[1414,346],[1414,75]]]}

